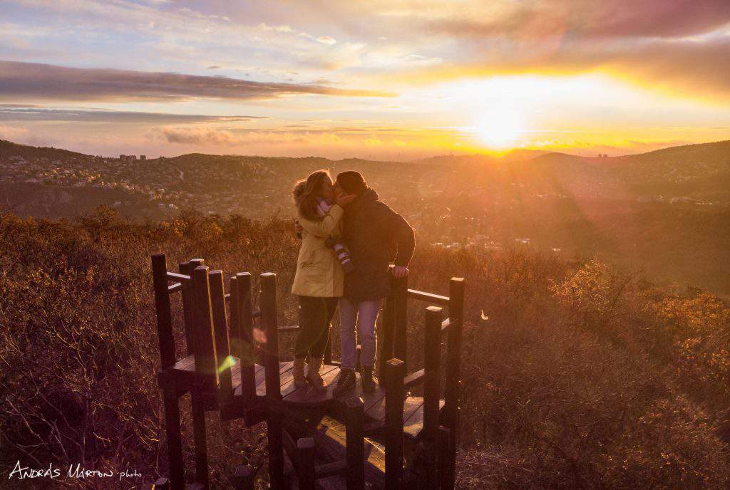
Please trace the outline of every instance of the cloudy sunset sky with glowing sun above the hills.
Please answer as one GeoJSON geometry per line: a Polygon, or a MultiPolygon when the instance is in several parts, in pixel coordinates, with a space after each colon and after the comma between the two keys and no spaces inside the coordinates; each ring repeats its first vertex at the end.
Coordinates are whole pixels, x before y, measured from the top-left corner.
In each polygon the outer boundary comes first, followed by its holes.
{"type": "Polygon", "coordinates": [[[730,1],[2,0],[0,139],[596,155],[730,139],[730,1]]]}

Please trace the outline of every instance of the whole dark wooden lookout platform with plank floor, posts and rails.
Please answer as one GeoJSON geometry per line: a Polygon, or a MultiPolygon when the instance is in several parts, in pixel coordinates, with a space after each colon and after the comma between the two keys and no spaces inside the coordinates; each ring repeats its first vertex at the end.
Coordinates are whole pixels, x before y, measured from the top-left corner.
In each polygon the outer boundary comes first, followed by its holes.
{"type": "MultiPolygon", "coordinates": [[[[358,380],[334,397],[339,362],[329,346],[320,371],[326,392],[297,388],[292,362],[280,359],[279,335],[299,327],[279,324],[276,274],[261,274],[254,305],[250,273],[229,277],[226,292],[223,271],[210,271],[202,259],[179,264],[173,272],[165,256],[155,254],[152,271],[169,458],[169,478],[156,482],[155,489],[210,487],[205,427],[210,411],[222,421],[241,419],[248,426],[266,421],[274,490],[454,488],[464,279],[451,279],[449,296],[442,296],[408,289],[407,279],[391,276],[391,295],[377,331],[380,384],[364,393],[358,380]],[[174,294],[182,295],[187,353],[182,359],[175,354],[174,294]],[[406,323],[413,300],[426,303],[425,364],[409,373],[406,323]],[[264,333],[265,341],[257,333],[264,333]],[[417,385],[423,386],[423,396],[410,396],[417,385]],[[180,399],[188,394],[195,470],[186,478],[180,399]]],[[[250,467],[235,467],[234,488],[253,489],[254,478],[250,467]]]]}

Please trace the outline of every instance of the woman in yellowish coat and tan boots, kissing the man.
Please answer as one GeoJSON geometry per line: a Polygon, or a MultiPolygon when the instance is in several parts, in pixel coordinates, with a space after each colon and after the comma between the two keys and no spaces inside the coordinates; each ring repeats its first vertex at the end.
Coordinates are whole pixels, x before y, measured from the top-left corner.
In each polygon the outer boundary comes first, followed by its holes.
{"type": "Polygon", "coordinates": [[[294,203],[299,215],[301,247],[291,292],[299,296],[299,335],[294,346],[293,377],[296,386],[307,382],[318,391],[327,389],[320,376],[323,355],[337,299],[342,296],[345,273],[328,236],[342,230],[344,206],[355,196],[335,195],[327,171],[316,171],[294,185],[294,203]],[[309,357],[306,375],[304,366],[309,357]]]}

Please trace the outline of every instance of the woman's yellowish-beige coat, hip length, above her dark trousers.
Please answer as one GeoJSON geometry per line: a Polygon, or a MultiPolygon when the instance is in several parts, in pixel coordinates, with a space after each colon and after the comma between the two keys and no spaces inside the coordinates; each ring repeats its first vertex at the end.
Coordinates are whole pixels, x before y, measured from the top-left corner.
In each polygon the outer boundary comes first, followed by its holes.
{"type": "Polygon", "coordinates": [[[338,236],[342,232],[344,212],[344,209],[334,204],[320,221],[299,216],[299,225],[304,231],[301,232],[292,294],[318,298],[342,296],[345,271],[342,271],[342,264],[325,240],[330,235],[338,236]]]}

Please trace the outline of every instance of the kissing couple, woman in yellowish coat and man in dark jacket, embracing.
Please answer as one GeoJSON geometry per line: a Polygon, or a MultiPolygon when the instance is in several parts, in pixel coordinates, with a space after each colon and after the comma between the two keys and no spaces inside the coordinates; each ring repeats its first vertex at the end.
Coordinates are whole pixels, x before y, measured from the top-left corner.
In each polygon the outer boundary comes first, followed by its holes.
{"type": "Polygon", "coordinates": [[[333,394],[338,397],[356,385],[358,341],[362,388],[374,392],[375,322],[389,293],[391,259],[393,276],[408,274],[415,250],[413,228],[380,201],[356,171],[342,172],[334,182],[328,171],[315,171],[296,182],[292,194],[298,215],[296,231],[301,236],[291,288],[299,297],[294,384],[327,389],[320,368],[339,304],[341,363],[333,394]]]}

